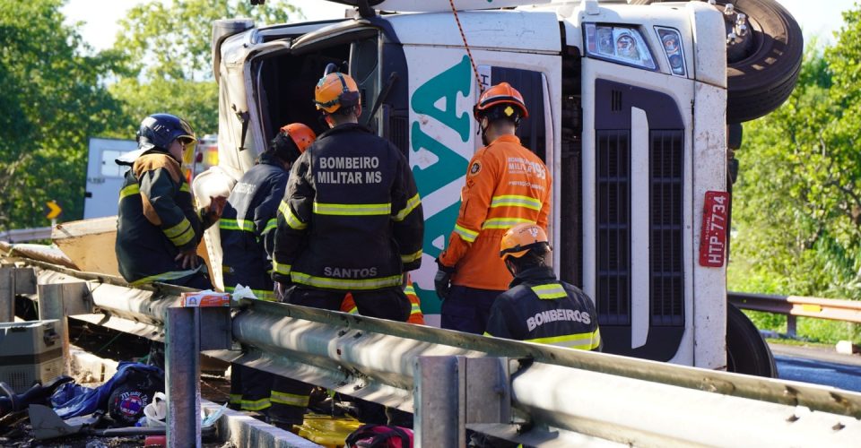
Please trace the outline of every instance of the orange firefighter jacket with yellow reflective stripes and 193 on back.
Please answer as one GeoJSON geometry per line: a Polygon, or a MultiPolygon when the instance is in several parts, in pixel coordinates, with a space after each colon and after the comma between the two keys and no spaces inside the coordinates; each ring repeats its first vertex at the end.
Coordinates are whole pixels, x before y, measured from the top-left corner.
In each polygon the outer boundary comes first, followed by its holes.
{"type": "Polygon", "coordinates": [[[440,264],[456,270],[453,285],[508,289],[511,274],[500,259],[502,235],[525,222],[547,228],[551,183],[544,162],[515,135],[502,135],[475,152],[455,229],[439,255],[440,264]]]}

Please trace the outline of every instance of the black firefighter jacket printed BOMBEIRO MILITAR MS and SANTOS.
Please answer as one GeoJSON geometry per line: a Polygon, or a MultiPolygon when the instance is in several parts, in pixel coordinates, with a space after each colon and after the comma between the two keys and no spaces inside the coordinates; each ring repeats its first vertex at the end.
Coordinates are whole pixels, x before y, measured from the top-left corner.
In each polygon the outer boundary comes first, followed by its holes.
{"type": "Polygon", "coordinates": [[[422,263],[424,217],[395,145],[361,125],[320,134],[278,208],[273,278],[335,291],[400,286],[422,263]]]}

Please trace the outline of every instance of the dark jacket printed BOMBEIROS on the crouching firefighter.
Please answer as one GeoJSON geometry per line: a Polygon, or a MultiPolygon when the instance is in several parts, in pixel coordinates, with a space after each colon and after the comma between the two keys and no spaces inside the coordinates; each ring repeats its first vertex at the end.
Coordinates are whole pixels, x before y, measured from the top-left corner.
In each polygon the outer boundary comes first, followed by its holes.
{"type": "Polygon", "coordinates": [[[602,347],[592,301],[577,287],[556,280],[547,266],[517,274],[511,289],[493,302],[484,334],[569,349],[602,347]]]}

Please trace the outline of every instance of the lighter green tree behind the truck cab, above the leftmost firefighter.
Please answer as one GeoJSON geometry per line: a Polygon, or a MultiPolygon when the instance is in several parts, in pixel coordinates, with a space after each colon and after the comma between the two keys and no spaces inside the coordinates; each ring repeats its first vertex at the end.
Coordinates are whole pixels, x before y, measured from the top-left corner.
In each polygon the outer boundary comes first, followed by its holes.
{"type": "Polygon", "coordinates": [[[153,0],[132,8],[114,50],[126,56],[126,73],[111,86],[134,116],[126,132],[134,135],[143,116],[168,112],[182,116],[198,134],[218,129],[218,86],[213,82],[210,39],[213,21],[249,17],[258,26],[300,17],[284,1],[252,6],[247,0],[153,0]]]}

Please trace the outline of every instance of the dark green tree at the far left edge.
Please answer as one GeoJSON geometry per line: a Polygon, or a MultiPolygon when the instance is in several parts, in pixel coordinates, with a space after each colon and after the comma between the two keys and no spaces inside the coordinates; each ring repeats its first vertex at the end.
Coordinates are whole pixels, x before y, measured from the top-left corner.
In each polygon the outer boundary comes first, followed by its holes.
{"type": "Polygon", "coordinates": [[[45,202],[83,216],[88,138],[126,122],[100,82],[111,54],[83,56],[61,0],[0,0],[0,227],[47,226],[45,202]]]}

